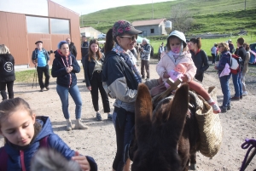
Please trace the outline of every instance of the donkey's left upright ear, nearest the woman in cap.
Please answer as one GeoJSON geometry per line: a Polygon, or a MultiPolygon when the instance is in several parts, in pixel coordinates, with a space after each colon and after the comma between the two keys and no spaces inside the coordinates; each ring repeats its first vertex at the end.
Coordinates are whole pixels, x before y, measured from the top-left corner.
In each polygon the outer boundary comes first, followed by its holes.
{"type": "Polygon", "coordinates": [[[153,105],[148,87],[144,83],[140,83],[137,88],[137,99],[135,102],[135,130],[137,139],[140,142],[150,132],[152,110],[153,105]]]}

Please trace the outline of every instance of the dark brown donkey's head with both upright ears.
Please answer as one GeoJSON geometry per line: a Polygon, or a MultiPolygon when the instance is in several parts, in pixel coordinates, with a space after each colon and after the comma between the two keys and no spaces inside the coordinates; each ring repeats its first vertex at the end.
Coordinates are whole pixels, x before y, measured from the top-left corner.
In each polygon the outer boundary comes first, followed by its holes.
{"type": "Polygon", "coordinates": [[[152,101],[148,88],[139,85],[135,109],[137,151],[132,171],[181,170],[177,143],[182,134],[189,107],[189,87],[183,84],[174,99],[158,107],[152,115],[152,101]]]}

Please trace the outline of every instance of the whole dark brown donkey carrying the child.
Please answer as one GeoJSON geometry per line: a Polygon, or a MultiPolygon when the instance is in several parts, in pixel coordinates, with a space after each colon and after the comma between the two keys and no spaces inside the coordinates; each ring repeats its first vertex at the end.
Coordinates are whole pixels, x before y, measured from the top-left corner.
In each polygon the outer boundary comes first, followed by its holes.
{"type": "Polygon", "coordinates": [[[199,132],[195,130],[195,115],[188,117],[189,108],[195,114],[195,106],[189,107],[188,84],[177,89],[172,101],[163,100],[154,114],[147,86],[139,85],[133,144],[137,147],[133,149],[132,171],[188,170],[189,162],[190,167],[195,169],[199,132]]]}

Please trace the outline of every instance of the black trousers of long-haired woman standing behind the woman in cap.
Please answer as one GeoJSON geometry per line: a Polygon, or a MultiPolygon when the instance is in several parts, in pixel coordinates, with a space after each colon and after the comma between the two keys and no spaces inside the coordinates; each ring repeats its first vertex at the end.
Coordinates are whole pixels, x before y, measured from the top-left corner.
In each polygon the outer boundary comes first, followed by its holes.
{"type": "Polygon", "coordinates": [[[92,79],[90,80],[90,94],[92,99],[92,105],[95,111],[99,111],[99,91],[102,96],[102,104],[105,113],[110,112],[108,94],[102,86],[102,71],[94,71],[92,75],[92,79]]]}

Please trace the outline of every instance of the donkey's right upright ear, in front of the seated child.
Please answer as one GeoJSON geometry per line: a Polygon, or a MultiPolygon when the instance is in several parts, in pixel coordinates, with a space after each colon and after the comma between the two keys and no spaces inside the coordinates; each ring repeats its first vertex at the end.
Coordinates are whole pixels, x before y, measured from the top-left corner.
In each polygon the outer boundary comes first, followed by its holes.
{"type": "Polygon", "coordinates": [[[172,131],[172,143],[173,145],[177,145],[177,141],[179,140],[185,119],[187,116],[189,108],[189,86],[187,83],[183,83],[183,85],[177,89],[176,94],[172,100],[172,105],[170,102],[169,111],[170,116],[169,120],[166,123],[166,129],[172,131]],[[174,140],[174,141],[173,141],[174,140]]]}

